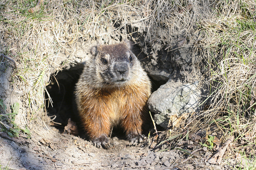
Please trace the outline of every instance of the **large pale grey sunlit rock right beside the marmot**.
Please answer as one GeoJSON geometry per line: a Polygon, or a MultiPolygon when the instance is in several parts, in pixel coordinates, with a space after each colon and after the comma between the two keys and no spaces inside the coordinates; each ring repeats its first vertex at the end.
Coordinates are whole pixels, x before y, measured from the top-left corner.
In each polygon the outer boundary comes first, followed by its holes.
{"type": "Polygon", "coordinates": [[[156,113],[155,123],[167,128],[171,115],[180,116],[195,111],[200,95],[198,82],[181,84],[170,80],[152,93],[148,106],[150,111],[156,113]]]}

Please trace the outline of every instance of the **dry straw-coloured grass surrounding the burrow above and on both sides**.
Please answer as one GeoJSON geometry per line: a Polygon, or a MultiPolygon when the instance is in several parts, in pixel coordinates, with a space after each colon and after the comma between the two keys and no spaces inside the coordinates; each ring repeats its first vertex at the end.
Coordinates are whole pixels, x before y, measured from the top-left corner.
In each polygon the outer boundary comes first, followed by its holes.
{"type": "MultiPolygon", "coordinates": [[[[223,141],[235,134],[235,144],[247,141],[255,146],[256,113],[250,104],[256,95],[252,90],[256,82],[255,1],[45,0],[41,10],[30,14],[28,10],[36,4],[0,2],[0,53],[18,63],[13,84],[24,91],[28,123],[44,105],[45,85],[54,72],[51,68],[74,62],[67,58],[58,65],[61,49],[70,51],[67,47],[78,40],[103,43],[103,37],[114,31],[126,32],[127,25],[143,30],[145,41],[164,39],[170,44],[173,35],[187,35],[198,27],[201,38],[193,52],[206,65],[205,84],[210,90],[209,107],[202,112],[205,126],[215,119],[224,132],[223,141]]],[[[0,64],[6,62],[1,58],[0,64]]]]}

